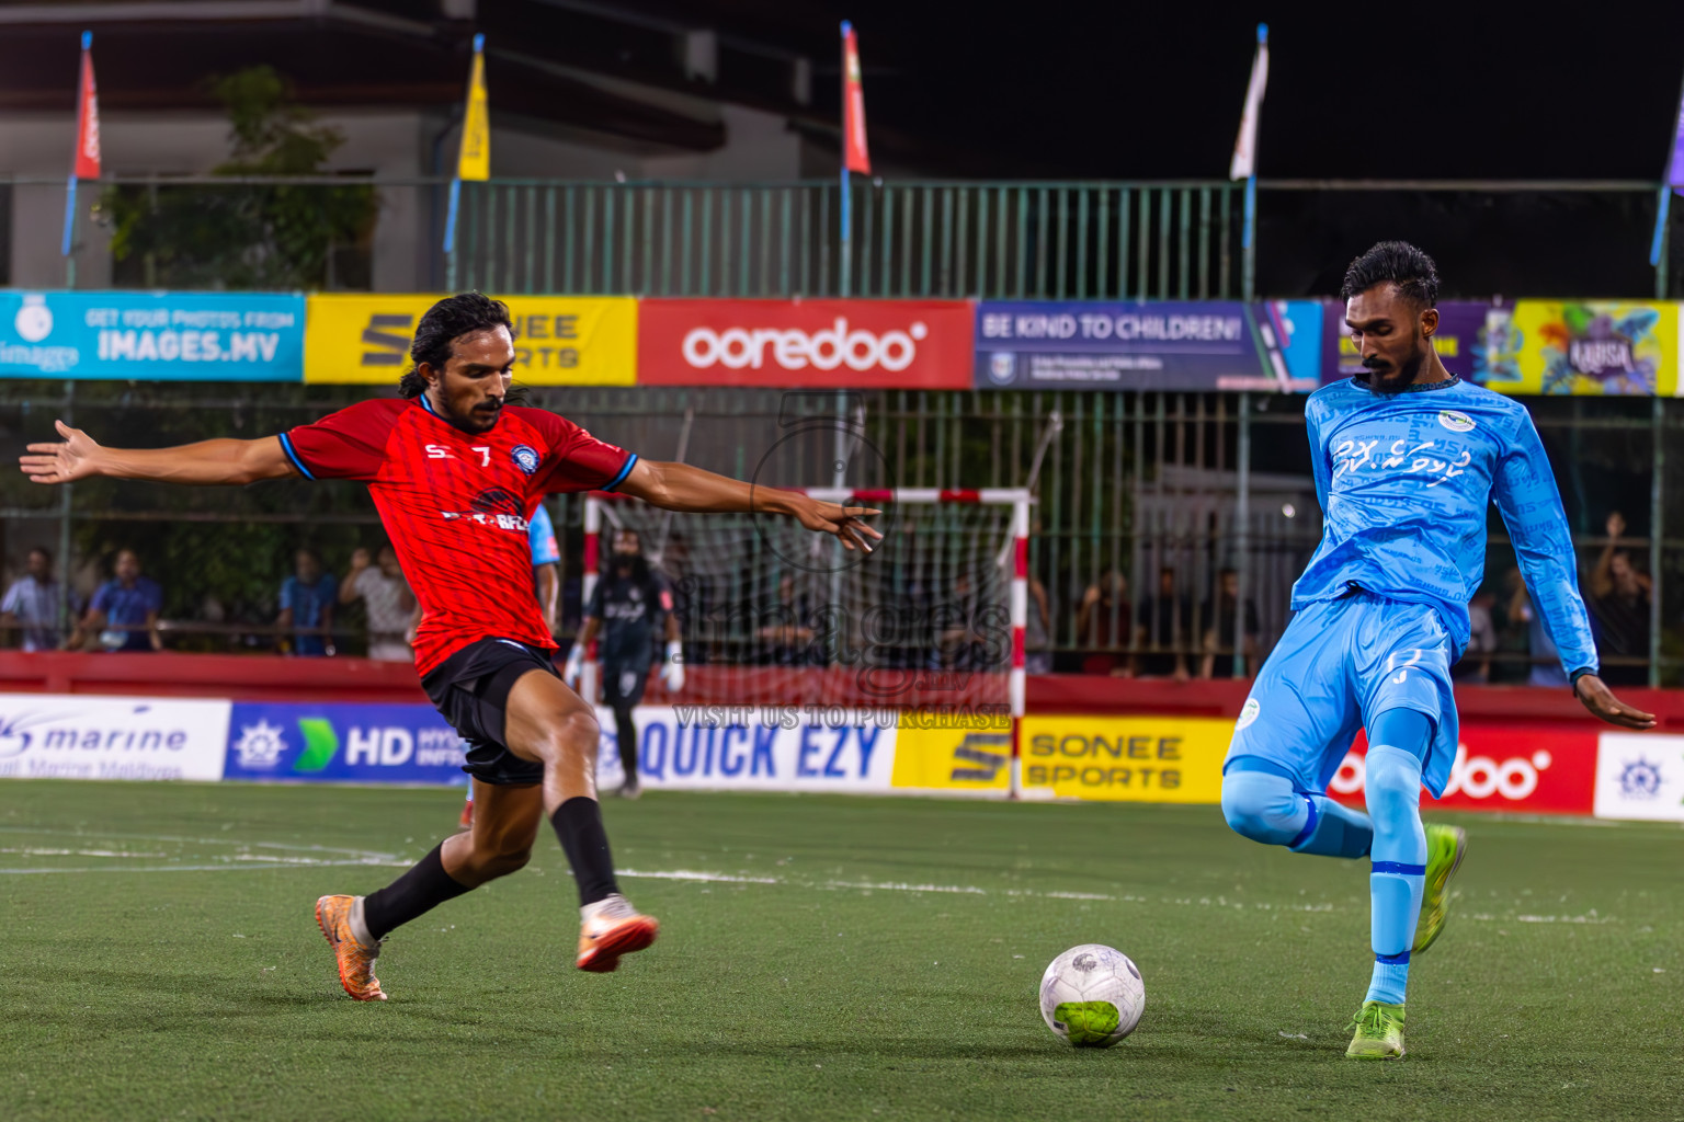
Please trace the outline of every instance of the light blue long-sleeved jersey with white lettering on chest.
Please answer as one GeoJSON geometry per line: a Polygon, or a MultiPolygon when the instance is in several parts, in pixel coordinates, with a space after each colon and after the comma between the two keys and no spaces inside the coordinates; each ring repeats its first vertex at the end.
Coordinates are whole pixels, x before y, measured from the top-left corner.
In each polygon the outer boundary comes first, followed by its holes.
{"type": "Polygon", "coordinates": [[[1293,611],[1352,584],[1431,604],[1460,658],[1495,498],[1561,668],[1596,671],[1561,495],[1521,404],[1455,377],[1403,394],[1347,378],[1312,394],[1305,421],[1324,528],[1292,587],[1293,611]]]}

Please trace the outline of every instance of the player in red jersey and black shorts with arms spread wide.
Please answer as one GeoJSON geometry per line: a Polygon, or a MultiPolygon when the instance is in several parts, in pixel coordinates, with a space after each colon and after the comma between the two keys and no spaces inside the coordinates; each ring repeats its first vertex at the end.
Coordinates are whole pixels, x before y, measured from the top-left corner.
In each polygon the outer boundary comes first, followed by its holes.
{"type": "Polygon", "coordinates": [[[871,550],[876,511],[753,488],[687,464],[640,459],[546,412],[509,405],[515,350],[509,310],[480,293],[433,304],[409,348],[399,399],[360,402],[258,441],[160,449],[101,447],[59,422],[62,442],[20,458],[35,483],[86,476],[162,483],[254,483],[303,476],[369,484],[421,602],[421,685],[468,742],[473,828],[440,843],[367,897],[317,900],[345,992],[384,1001],[374,961],[387,932],[514,873],[551,821],[579,885],[581,971],[613,971],[655,940],[657,924],[615,883],[596,804],[596,717],[551,664],[532,592],[527,518],[547,493],[620,490],[682,511],[788,515],[871,550]]]}

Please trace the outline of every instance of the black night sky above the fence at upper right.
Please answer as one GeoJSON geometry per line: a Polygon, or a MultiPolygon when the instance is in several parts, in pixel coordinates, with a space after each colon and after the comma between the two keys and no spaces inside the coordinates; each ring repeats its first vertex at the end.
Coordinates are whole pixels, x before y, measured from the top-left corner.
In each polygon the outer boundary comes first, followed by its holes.
{"type": "Polygon", "coordinates": [[[820,7],[859,27],[874,126],[1000,177],[1226,173],[1258,19],[1263,177],[1655,178],[1684,77],[1677,2],[820,7]]]}

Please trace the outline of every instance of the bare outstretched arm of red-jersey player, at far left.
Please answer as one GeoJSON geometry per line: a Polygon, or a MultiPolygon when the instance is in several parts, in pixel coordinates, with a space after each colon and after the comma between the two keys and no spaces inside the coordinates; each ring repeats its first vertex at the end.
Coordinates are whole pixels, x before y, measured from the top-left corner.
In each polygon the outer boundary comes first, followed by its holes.
{"type": "Polygon", "coordinates": [[[244,484],[296,474],[281,439],[200,441],[175,447],[101,447],[81,429],[54,422],[62,441],[30,444],[19,466],[32,483],[74,483],[89,476],[153,483],[244,484]]]}

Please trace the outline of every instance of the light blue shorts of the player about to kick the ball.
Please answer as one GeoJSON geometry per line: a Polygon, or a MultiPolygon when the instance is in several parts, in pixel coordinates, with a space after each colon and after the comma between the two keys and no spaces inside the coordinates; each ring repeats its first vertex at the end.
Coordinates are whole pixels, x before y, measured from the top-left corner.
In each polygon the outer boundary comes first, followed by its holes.
{"type": "Polygon", "coordinates": [[[1234,723],[1223,770],[1255,755],[1324,792],[1357,730],[1393,708],[1433,722],[1421,784],[1436,799],[1457,759],[1455,644],[1426,604],[1354,592],[1310,604],[1263,663],[1234,723]]]}

